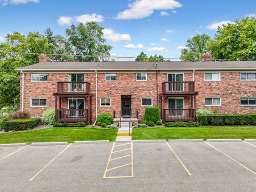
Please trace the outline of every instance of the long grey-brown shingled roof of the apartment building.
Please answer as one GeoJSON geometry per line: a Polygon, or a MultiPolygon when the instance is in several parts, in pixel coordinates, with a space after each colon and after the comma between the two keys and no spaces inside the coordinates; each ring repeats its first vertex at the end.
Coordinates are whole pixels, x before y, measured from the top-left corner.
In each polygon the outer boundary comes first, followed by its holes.
{"type": "Polygon", "coordinates": [[[205,61],[205,62],[41,62],[17,70],[256,70],[256,61],[205,61]]]}

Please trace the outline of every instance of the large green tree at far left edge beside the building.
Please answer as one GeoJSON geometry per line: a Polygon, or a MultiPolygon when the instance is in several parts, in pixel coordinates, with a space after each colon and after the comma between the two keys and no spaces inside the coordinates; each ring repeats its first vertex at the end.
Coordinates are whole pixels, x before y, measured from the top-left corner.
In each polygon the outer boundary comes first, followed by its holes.
{"type": "Polygon", "coordinates": [[[6,36],[6,42],[0,44],[0,108],[19,105],[20,76],[14,69],[37,63],[38,54],[33,53],[51,54],[54,49],[39,33],[25,36],[14,32],[6,36]]]}

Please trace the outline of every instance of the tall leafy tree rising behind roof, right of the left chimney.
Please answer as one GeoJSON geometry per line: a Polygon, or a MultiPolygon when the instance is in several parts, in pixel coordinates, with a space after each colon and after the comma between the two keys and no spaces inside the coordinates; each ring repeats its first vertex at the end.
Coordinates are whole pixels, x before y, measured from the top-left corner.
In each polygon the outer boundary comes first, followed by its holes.
{"type": "Polygon", "coordinates": [[[66,29],[66,35],[71,45],[75,61],[106,61],[110,57],[110,45],[104,44],[103,28],[96,22],[80,23],[77,27],[71,25],[66,29]],[[82,57],[79,55],[83,55],[82,57]],[[92,57],[86,57],[92,55],[92,57]]]}

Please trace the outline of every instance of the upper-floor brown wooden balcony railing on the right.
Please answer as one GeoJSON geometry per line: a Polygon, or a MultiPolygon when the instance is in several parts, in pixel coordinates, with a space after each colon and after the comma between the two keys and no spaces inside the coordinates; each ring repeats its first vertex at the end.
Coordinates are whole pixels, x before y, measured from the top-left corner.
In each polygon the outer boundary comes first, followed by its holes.
{"type": "Polygon", "coordinates": [[[163,82],[163,94],[194,94],[194,82],[163,82]]]}

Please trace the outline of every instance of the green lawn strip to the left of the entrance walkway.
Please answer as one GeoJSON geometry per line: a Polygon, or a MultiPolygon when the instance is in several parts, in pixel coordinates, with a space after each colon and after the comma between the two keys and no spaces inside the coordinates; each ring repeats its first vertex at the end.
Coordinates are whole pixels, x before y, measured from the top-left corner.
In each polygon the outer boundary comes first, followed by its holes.
{"type": "Polygon", "coordinates": [[[20,142],[57,142],[57,141],[115,141],[117,129],[98,129],[89,127],[54,127],[43,130],[0,134],[0,144],[20,142]]]}

